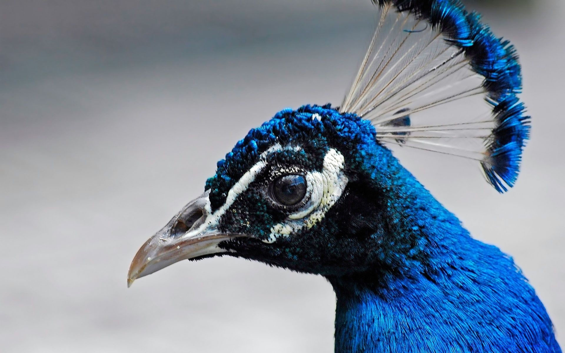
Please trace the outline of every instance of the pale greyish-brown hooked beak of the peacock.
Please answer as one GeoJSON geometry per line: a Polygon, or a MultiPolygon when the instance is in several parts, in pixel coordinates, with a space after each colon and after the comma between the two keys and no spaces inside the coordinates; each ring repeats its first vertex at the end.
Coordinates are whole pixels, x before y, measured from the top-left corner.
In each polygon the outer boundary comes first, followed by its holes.
{"type": "Polygon", "coordinates": [[[218,230],[217,220],[210,211],[206,191],[188,203],[169,223],[149,238],[129,266],[128,287],[137,278],[157,272],[184,259],[226,252],[218,247],[222,241],[237,237],[218,230]]]}

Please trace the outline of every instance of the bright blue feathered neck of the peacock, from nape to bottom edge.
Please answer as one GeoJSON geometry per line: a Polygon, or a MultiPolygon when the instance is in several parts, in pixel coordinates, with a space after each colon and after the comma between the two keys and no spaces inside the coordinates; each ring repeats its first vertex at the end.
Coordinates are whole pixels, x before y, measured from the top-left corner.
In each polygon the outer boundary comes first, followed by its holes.
{"type": "Polygon", "coordinates": [[[392,232],[420,238],[411,251],[425,260],[406,256],[395,271],[328,277],[337,295],[336,353],[561,352],[512,259],[471,238],[392,156],[389,164],[392,232]]]}

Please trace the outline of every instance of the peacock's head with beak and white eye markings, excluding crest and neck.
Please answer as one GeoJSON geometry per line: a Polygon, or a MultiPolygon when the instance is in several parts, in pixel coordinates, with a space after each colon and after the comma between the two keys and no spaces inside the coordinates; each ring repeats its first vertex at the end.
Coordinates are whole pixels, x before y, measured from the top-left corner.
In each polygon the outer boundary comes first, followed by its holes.
{"type": "Polygon", "coordinates": [[[375,134],[370,121],[329,105],[278,112],[141,247],[128,283],[217,255],[326,276],[363,271],[379,256],[379,215],[396,165],[375,134]]]}

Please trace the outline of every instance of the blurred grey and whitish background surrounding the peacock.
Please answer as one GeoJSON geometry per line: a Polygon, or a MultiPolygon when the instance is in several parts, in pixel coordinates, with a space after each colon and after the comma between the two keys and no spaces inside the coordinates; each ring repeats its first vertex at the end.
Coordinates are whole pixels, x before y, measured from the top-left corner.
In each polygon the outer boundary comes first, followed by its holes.
{"type": "MultiPolygon", "coordinates": [[[[514,256],[563,345],[565,4],[467,3],[521,54],[533,135],[518,185],[499,195],[472,163],[397,155],[514,256]]],[[[126,273],[249,128],[341,103],[374,12],[368,0],[2,0],[0,351],[333,351],[321,277],[233,258],[131,289],[126,273]]]]}

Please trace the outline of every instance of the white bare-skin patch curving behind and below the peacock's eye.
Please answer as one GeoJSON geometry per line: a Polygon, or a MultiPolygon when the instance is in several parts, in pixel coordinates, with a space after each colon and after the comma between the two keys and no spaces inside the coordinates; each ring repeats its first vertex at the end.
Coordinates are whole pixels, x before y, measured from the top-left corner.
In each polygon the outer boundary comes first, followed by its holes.
{"type": "Polygon", "coordinates": [[[345,159],[340,151],[330,149],[324,156],[321,172],[306,173],[308,203],[301,211],[292,213],[287,219],[271,227],[271,234],[265,243],[273,243],[277,238],[288,237],[302,228],[312,228],[324,218],[325,213],[341,197],[347,185],[347,176],[343,172],[345,159]]]}

